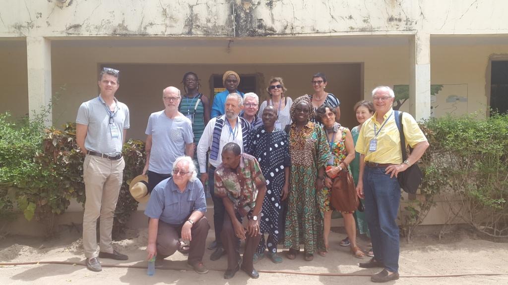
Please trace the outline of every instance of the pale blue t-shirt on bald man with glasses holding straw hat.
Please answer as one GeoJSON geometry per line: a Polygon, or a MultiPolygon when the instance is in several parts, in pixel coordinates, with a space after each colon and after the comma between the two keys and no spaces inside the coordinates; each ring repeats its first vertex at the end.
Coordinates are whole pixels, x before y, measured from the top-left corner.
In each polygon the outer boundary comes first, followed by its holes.
{"type": "Polygon", "coordinates": [[[148,118],[145,134],[152,135],[152,149],[148,170],[159,174],[171,174],[173,162],[185,154],[185,144],[192,144],[192,123],[185,116],[168,118],[163,111],[148,118]]]}

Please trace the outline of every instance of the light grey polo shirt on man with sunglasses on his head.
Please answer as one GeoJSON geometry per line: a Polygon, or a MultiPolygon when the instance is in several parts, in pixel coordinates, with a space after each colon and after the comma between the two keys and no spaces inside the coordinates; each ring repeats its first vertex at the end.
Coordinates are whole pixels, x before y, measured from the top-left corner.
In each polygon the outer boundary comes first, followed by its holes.
{"type": "Polygon", "coordinates": [[[109,107],[100,96],[79,106],[76,123],[88,126],[85,137],[85,148],[87,150],[109,156],[121,154],[123,129],[130,128],[129,108],[116,99],[115,102],[115,111],[111,115],[109,107]],[[112,134],[110,122],[117,130],[117,135],[112,134]]]}

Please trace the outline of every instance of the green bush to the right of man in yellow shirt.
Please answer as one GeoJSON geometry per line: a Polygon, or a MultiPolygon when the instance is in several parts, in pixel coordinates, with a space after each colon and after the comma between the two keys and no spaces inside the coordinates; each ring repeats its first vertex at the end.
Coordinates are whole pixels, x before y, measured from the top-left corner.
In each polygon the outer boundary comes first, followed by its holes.
{"type": "Polygon", "coordinates": [[[406,233],[440,194],[452,213],[448,222],[460,218],[488,235],[508,236],[508,115],[448,116],[421,127],[430,147],[421,160],[423,195],[406,206],[406,233]]]}

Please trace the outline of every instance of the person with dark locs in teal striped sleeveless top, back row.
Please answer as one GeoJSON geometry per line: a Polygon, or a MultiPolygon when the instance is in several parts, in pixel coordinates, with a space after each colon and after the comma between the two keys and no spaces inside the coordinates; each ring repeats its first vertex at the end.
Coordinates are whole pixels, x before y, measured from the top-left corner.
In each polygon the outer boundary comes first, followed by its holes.
{"type": "MultiPolygon", "coordinates": [[[[194,133],[194,146],[198,146],[203,130],[210,121],[210,99],[199,92],[198,75],[193,72],[187,72],[182,79],[184,95],[178,106],[180,111],[192,123],[194,133]]],[[[197,152],[194,153],[194,164],[198,165],[197,152]]],[[[201,173],[198,174],[198,177],[201,173]]]]}

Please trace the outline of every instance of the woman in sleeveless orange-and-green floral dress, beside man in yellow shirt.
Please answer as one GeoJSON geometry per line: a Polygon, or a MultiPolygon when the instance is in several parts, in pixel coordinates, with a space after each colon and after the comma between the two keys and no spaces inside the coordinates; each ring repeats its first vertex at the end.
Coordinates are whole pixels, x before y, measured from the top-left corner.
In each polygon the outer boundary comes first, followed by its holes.
{"type": "MultiPolygon", "coordinates": [[[[337,176],[339,172],[342,171],[342,169],[345,169],[345,171],[350,171],[348,166],[355,158],[355,145],[353,144],[353,137],[351,136],[351,132],[348,128],[341,126],[335,121],[335,111],[335,108],[325,103],[320,108],[317,108],[316,112],[317,117],[320,118],[320,121],[325,127],[325,133],[328,143],[330,144],[330,151],[332,155],[330,161],[328,161],[330,169],[326,171],[325,188],[322,192],[319,193],[321,195],[317,195],[319,204],[321,206],[320,208],[324,216],[323,232],[327,250],[329,244],[328,236],[330,235],[330,227],[332,222],[332,208],[330,207],[332,179],[330,177],[337,176]]],[[[356,197],[356,194],[354,197],[356,197]]],[[[347,206],[348,204],[344,202],[344,205],[347,206]]],[[[356,258],[364,258],[365,254],[356,244],[356,226],[355,218],[353,217],[353,213],[355,211],[352,211],[351,208],[354,208],[354,206],[349,204],[347,209],[337,207],[336,210],[340,211],[342,217],[344,218],[344,228],[346,230],[347,236],[351,240],[351,253],[356,258]]],[[[325,256],[327,254],[327,252],[318,253],[321,256],[325,256]]]]}

